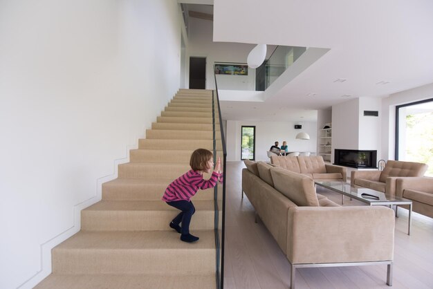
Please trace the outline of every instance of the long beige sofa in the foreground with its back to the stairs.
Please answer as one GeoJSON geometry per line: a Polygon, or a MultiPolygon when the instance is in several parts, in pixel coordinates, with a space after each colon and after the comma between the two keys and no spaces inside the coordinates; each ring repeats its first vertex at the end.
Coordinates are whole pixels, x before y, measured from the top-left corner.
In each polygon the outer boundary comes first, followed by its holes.
{"type": "Polygon", "coordinates": [[[387,264],[392,284],[394,212],[381,206],[341,207],[315,193],[314,180],[265,162],[245,161],[242,190],[295,269],[387,264]]]}

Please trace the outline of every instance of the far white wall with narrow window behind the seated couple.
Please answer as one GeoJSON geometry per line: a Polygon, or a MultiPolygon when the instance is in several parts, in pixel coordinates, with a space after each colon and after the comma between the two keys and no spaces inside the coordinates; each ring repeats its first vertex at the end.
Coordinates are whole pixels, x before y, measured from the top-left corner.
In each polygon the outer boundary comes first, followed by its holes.
{"type": "Polygon", "coordinates": [[[295,129],[298,122],[243,122],[227,121],[227,160],[241,160],[241,127],[255,126],[255,159],[268,161],[266,151],[274,142],[279,146],[286,140],[288,151],[316,151],[317,146],[317,123],[302,122],[302,129],[295,129]],[[296,140],[297,133],[304,131],[310,135],[310,140],[296,140]]]}

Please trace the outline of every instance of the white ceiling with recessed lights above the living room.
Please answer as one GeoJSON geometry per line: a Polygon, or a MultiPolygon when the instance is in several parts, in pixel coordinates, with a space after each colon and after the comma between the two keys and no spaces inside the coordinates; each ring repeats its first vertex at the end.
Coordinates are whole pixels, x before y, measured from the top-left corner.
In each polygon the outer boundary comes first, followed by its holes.
{"type": "MultiPolygon", "coordinates": [[[[433,82],[432,0],[215,0],[214,41],[331,49],[261,104],[264,117],[290,107],[308,118],[305,109],[433,82]]],[[[258,115],[257,102],[225,106],[225,115],[258,115]]]]}

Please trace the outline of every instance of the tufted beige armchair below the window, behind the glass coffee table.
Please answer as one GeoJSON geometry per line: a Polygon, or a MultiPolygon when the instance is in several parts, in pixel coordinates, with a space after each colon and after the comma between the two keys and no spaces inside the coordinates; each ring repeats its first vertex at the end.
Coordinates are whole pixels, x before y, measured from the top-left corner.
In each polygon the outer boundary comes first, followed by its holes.
{"type": "Polygon", "coordinates": [[[424,176],[427,168],[427,165],[420,162],[388,160],[383,171],[351,171],[350,183],[394,196],[397,178],[424,176]]]}

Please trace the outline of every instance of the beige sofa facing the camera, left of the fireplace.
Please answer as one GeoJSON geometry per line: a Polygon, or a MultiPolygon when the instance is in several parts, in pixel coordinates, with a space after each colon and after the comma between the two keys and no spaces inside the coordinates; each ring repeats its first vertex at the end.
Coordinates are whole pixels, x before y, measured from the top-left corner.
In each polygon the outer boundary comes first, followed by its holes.
{"type": "Polygon", "coordinates": [[[325,164],[322,156],[271,156],[270,162],[315,180],[347,180],[345,167],[325,164]]]}

